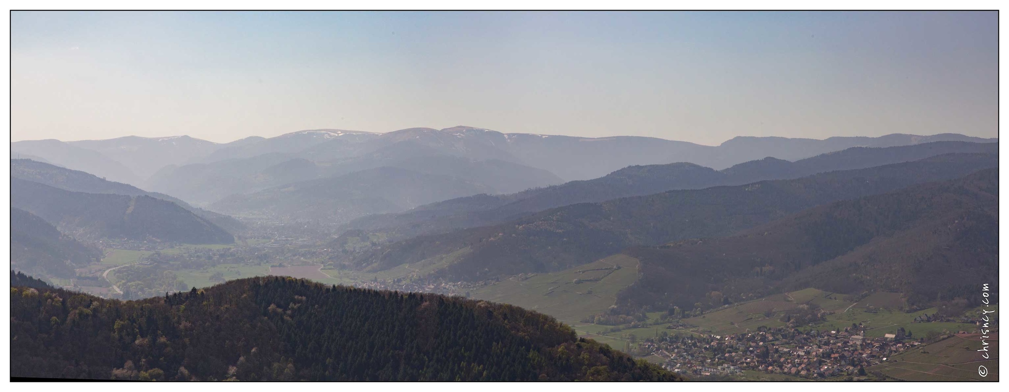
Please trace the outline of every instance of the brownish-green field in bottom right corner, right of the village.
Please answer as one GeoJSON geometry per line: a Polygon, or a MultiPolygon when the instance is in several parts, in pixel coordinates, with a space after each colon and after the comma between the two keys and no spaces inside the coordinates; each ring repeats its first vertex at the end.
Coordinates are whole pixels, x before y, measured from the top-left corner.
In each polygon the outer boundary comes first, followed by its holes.
{"type": "MultiPolygon", "coordinates": [[[[990,353],[998,353],[998,336],[986,340],[990,353]]],[[[904,381],[998,381],[997,354],[985,360],[978,352],[982,342],[977,335],[954,335],[925,347],[901,353],[885,364],[867,370],[881,372],[904,381]],[[978,367],[985,366],[988,376],[981,377],[978,367]]]]}

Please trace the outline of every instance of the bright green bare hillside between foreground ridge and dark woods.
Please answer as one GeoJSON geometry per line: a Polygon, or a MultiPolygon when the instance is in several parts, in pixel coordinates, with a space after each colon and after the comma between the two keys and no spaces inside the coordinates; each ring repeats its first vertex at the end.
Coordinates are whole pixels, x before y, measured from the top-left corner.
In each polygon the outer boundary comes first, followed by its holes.
{"type": "Polygon", "coordinates": [[[536,274],[481,287],[471,297],[511,303],[553,315],[569,324],[604,312],[616,293],[638,279],[638,259],[615,255],[563,271],[536,274]]]}

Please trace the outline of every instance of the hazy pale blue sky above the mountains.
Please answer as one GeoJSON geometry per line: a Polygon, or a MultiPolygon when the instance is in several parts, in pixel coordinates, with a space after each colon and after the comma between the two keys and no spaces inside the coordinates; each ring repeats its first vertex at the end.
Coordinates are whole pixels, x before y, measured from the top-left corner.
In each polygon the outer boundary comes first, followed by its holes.
{"type": "Polygon", "coordinates": [[[996,12],[12,12],[12,139],[996,137],[996,12]]]}

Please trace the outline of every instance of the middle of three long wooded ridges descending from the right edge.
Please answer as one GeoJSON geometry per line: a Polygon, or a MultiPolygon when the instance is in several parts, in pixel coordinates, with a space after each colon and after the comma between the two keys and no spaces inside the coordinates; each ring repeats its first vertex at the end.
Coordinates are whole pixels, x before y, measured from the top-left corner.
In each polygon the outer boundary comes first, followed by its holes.
{"type": "MultiPolygon", "coordinates": [[[[727,236],[818,205],[997,166],[994,154],[946,154],[797,179],[579,204],[501,225],[399,241],[352,255],[347,263],[377,271],[404,263],[444,262],[435,276],[450,280],[556,271],[630,246],[727,236]]],[[[338,255],[335,260],[343,259],[338,255]]]]}

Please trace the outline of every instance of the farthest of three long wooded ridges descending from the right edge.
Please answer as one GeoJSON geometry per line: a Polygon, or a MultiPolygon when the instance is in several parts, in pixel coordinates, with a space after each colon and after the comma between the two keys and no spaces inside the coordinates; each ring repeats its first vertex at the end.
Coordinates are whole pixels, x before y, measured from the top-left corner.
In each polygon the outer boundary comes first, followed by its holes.
{"type": "MultiPolygon", "coordinates": [[[[487,226],[551,208],[596,203],[674,189],[737,185],[765,179],[906,162],[946,153],[998,153],[998,143],[930,142],[899,147],[852,147],[790,162],[767,157],[714,170],[692,163],[626,167],[605,176],[511,194],[478,194],[421,206],[399,214],[372,215],[348,224],[350,236],[381,233],[403,239],[487,226]]],[[[365,236],[366,237],[366,236],[365,236]]]]}

